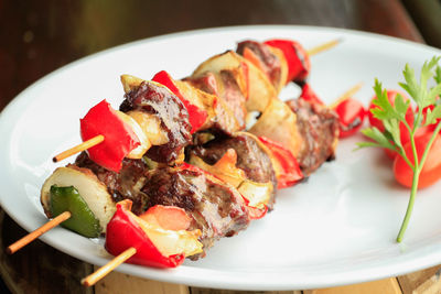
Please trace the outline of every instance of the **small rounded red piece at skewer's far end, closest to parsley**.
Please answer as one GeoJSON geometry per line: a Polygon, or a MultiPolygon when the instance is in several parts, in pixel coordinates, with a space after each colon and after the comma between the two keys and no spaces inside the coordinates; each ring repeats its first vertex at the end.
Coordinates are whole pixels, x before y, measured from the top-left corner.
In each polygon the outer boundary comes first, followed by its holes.
{"type": "Polygon", "coordinates": [[[335,112],[340,119],[340,138],[353,135],[363,127],[366,110],[358,100],[343,100],[335,107],[335,112]]]}

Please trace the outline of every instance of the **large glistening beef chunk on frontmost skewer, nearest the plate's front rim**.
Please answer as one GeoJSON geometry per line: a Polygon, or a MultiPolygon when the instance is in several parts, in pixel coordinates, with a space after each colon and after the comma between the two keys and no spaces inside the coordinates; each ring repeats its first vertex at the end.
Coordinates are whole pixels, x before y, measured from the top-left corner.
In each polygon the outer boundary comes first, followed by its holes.
{"type": "Polygon", "coordinates": [[[222,237],[232,237],[249,224],[248,210],[240,194],[228,184],[198,170],[162,167],[150,172],[142,192],[149,195],[148,207],[178,206],[193,218],[190,230],[200,229],[204,252],[222,237]]]}

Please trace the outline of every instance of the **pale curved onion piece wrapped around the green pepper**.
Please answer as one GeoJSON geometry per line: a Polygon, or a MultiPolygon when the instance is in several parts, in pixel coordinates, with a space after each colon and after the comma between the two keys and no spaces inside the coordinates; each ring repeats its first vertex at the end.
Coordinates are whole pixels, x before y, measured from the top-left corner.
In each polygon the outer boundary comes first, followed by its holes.
{"type": "MultiPolygon", "coordinates": [[[[93,215],[99,220],[99,226],[103,232],[105,232],[107,224],[116,211],[116,206],[107,192],[107,187],[90,172],[90,170],[79,168],[74,165],[58,167],[44,182],[40,199],[47,218],[54,217],[51,209],[51,187],[54,185],[58,187],[74,186],[93,215]]],[[[71,213],[74,214],[75,211],[71,213]]]]}

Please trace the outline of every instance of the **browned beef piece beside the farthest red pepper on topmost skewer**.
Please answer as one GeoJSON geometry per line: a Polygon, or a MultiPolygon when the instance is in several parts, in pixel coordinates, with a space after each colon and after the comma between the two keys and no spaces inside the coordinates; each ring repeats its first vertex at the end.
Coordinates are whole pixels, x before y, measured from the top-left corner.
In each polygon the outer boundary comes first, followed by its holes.
{"type": "Polygon", "coordinates": [[[236,53],[244,55],[244,50],[250,50],[260,59],[263,66],[262,72],[268,76],[271,84],[276,87],[280,83],[281,65],[279,58],[271,53],[267,45],[256,41],[244,41],[237,44],[236,53]]]}

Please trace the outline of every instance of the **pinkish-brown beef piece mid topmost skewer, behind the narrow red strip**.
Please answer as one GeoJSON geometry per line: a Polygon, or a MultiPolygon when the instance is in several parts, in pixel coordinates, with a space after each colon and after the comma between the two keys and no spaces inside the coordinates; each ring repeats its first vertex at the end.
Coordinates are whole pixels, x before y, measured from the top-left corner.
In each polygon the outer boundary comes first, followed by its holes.
{"type": "Polygon", "coordinates": [[[205,92],[216,95],[224,100],[225,105],[233,112],[239,130],[245,129],[247,110],[245,107],[246,98],[230,70],[220,70],[218,74],[211,72],[203,76],[185,78],[193,87],[205,92]]]}

